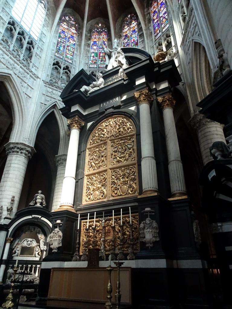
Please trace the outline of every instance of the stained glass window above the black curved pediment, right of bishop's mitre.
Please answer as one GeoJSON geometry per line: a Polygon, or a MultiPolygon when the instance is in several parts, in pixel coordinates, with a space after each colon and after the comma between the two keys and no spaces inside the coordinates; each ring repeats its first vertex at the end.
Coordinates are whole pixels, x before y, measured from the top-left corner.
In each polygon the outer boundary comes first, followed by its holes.
{"type": "Polygon", "coordinates": [[[137,20],[134,14],[125,18],[122,26],[123,47],[138,47],[137,20]]]}

